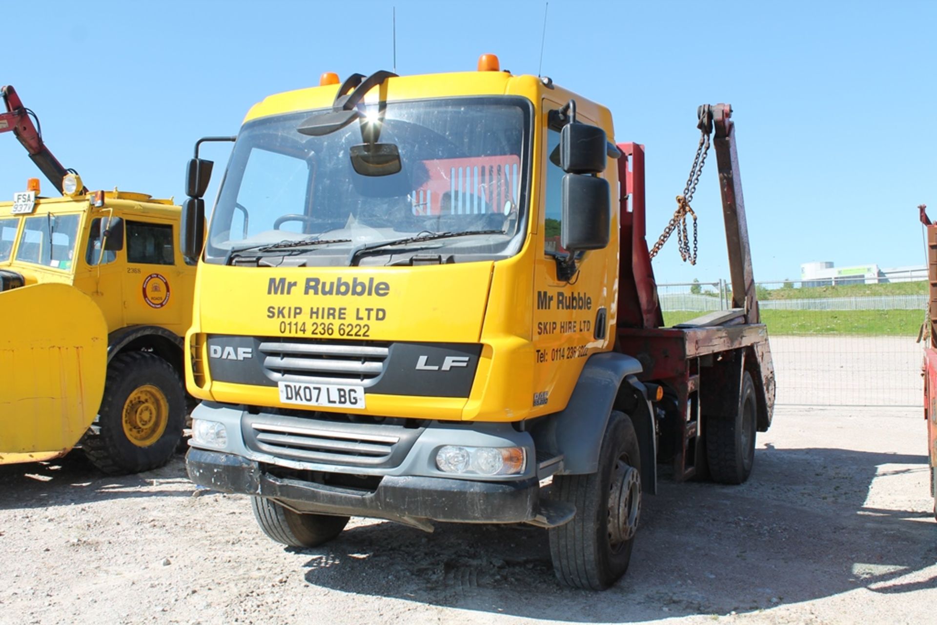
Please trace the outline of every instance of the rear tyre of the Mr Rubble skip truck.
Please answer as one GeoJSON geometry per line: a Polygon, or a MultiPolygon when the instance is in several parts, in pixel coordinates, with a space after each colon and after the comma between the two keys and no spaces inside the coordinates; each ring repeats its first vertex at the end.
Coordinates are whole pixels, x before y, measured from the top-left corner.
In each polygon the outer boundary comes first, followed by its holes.
{"type": "Polygon", "coordinates": [[[755,385],[745,371],[736,409],[706,419],[706,462],[714,482],[742,484],[749,479],[755,459],[757,420],[755,385]]]}

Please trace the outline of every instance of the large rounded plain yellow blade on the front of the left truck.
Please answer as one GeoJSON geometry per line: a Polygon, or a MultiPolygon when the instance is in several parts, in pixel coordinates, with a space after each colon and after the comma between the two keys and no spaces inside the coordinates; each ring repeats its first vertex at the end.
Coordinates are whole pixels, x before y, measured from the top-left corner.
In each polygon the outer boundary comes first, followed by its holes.
{"type": "Polygon", "coordinates": [[[66,454],[104,394],[107,323],[82,291],[0,292],[0,465],[66,454]]]}

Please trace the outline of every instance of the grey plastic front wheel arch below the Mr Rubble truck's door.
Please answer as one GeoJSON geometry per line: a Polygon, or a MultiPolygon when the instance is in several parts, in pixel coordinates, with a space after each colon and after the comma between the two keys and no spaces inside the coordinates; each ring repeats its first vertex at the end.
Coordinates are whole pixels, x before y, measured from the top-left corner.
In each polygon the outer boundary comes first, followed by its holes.
{"type": "Polygon", "coordinates": [[[613,409],[632,420],[641,451],[642,488],[657,492],[657,454],[653,409],[647,388],[636,375],[637,359],[615,351],[589,357],[565,409],[530,429],[538,449],[563,454],[565,475],[594,473],[599,468],[602,438],[613,409]]]}

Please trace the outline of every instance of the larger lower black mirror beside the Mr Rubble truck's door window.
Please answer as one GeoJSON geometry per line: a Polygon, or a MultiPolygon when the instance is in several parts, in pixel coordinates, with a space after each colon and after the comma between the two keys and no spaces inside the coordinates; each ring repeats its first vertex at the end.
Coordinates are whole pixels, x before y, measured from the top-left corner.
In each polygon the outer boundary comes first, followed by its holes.
{"type": "MultiPolygon", "coordinates": [[[[604,149],[603,143],[602,154],[604,149]]],[[[577,251],[608,246],[612,233],[611,198],[611,187],[604,178],[580,173],[563,176],[559,245],[570,251],[571,260],[577,251]]]]}

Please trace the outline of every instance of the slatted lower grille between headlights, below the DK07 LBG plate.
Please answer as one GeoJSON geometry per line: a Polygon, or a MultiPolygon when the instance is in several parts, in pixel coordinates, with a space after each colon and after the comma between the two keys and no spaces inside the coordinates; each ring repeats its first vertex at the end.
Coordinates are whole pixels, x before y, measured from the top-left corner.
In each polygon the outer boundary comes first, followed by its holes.
{"type": "Polygon", "coordinates": [[[241,429],[247,447],[262,454],[328,465],[393,468],[424,428],[245,414],[241,429]]]}

